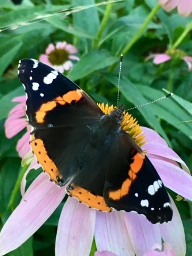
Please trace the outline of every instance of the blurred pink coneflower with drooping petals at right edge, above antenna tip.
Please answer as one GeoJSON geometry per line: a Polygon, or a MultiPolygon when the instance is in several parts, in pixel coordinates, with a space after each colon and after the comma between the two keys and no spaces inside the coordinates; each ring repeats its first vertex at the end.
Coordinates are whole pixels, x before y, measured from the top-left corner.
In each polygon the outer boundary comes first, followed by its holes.
{"type": "Polygon", "coordinates": [[[158,65],[163,62],[174,60],[183,60],[188,65],[189,71],[192,71],[192,57],[187,56],[185,52],[180,49],[167,50],[166,53],[154,53],[145,58],[145,61],[153,58],[153,63],[158,65]]]}

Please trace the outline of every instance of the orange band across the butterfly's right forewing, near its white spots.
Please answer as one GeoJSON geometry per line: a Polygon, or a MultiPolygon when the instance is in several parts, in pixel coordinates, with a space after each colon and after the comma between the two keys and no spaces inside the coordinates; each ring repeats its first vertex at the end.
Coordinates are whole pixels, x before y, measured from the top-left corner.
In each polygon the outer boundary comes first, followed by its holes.
{"type": "Polygon", "coordinates": [[[133,163],[131,163],[130,169],[128,170],[128,178],[122,183],[122,186],[120,189],[109,192],[109,197],[112,200],[119,200],[125,195],[128,195],[128,192],[131,188],[131,184],[137,178],[137,172],[139,172],[143,166],[144,159],[145,159],[145,154],[143,153],[137,153],[134,156],[133,163]]]}

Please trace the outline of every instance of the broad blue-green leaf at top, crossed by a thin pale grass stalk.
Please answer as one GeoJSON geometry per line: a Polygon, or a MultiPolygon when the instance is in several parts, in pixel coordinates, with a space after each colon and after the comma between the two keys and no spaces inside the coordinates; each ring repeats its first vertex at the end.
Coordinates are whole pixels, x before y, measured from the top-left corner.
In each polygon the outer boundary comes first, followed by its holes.
{"type": "MultiPolygon", "coordinates": [[[[94,5],[94,0],[73,0],[74,6],[94,5]]],[[[96,7],[82,9],[79,12],[73,13],[73,24],[75,27],[80,27],[90,36],[95,37],[99,29],[99,14],[96,7]]]]}

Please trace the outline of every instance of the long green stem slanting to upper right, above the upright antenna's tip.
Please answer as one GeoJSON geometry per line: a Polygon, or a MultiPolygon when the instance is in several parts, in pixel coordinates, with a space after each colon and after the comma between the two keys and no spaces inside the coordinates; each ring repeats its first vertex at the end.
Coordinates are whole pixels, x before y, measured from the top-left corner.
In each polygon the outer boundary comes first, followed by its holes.
{"type": "MultiPolygon", "coordinates": [[[[148,26],[150,21],[154,18],[154,16],[156,15],[156,13],[160,9],[160,7],[161,6],[159,5],[159,3],[157,3],[157,5],[151,10],[151,12],[149,13],[149,15],[146,18],[146,20],[143,23],[143,25],[140,27],[140,29],[137,31],[137,33],[134,35],[134,37],[131,39],[131,41],[129,41],[127,46],[125,46],[125,48],[122,50],[122,55],[125,55],[131,49],[131,47],[137,42],[137,40],[143,34],[143,32],[145,31],[146,27],[148,26]]],[[[116,66],[116,63],[113,64],[110,67],[109,72],[111,72],[114,69],[115,66],[116,66]]]]}

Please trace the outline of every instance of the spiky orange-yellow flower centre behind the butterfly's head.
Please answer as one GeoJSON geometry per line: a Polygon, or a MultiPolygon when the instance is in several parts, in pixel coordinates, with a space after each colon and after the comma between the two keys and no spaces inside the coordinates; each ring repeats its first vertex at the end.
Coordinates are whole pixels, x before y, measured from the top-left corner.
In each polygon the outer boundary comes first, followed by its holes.
{"type": "MultiPolygon", "coordinates": [[[[98,103],[97,105],[105,114],[109,114],[111,113],[111,111],[116,109],[116,107],[114,107],[113,105],[111,106],[109,106],[108,104],[104,105],[104,103],[102,104],[98,103]]],[[[128,112],[124,112],[123,114],[124,114],[124,117],[121,123],[122,129],[126,131],[140,147],[143,146],[146,143],[145,135],[143,133],[142,128],[137,123],[136,118],[134,118],[128,112]]]]}

